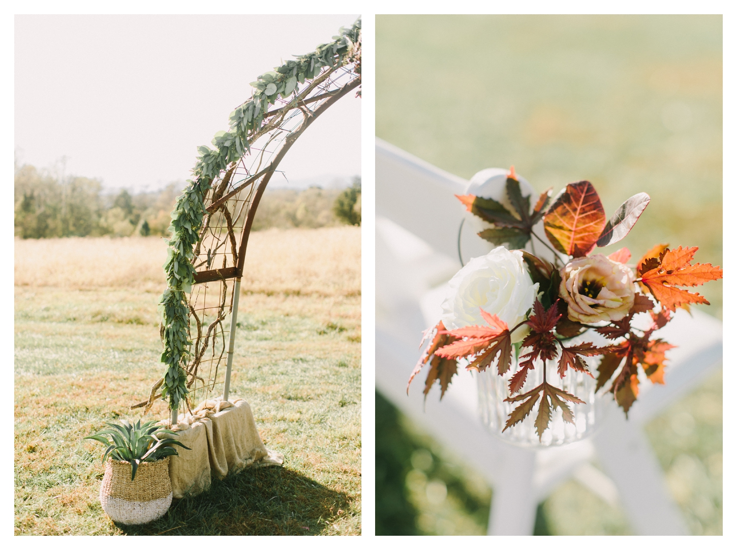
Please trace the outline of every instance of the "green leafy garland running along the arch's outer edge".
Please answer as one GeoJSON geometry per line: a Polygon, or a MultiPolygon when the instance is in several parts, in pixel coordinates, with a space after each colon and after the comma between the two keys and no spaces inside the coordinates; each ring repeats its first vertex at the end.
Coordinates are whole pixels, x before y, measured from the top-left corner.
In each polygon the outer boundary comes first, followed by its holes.
{"type": "MultiPolygon", "coordinates": [[[[259,136],[262,122],[268,111],[281,96],[284,100],[298,94],[298,84],[311,80],[323,67],[341,66],[346,63],[354,44],[360,42],[360,18],[346,29],[340,28],[339,35],[332,42],[321,44],[314,52],[296,56],[274,71],[266,72],[251,83],[254,93],[230,114],[230,130],[220,131],[212,139],[214,149],[203,145],[198,147],[200,156],[192,170],[193,178],[187,180],[184,192],[177,198],[172,211],[172,224],[169,231],[172,238],[164,271],[167,274],[167,290],[161,295],[161,339],[164,352],[161,363],[167,365],[161,385],[161,399],[169,400],[170,410],[179,408],[181,400],[189,391],[186,388],[186,370],[189,362],[189,304],[186,293],[192,291],[195,281],[194,246],[198,241],[205,215],[204,199],[212,185],[228,164],[233,164],[246,153],[259,136]]],[[[357,68],[360,71],[360,66],[357,68]]]]}

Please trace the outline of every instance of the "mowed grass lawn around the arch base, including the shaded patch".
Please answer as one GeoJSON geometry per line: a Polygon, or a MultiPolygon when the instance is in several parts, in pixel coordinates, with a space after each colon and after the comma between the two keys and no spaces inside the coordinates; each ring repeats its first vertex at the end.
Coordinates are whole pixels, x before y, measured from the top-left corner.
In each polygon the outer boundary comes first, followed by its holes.
{"type": "MultiPolygon", "coordinates": [[[[161,376],[147,286],[16,287],[15,534],[360,534],[360,290],[240,298],[231,394],[284,467],[214,481],[147,526],[105,515],[102,445],[82,437],[140,417],[128,407],[161,376]]],[[[161,401],[147,416],[166,417],[161,401]]]]}

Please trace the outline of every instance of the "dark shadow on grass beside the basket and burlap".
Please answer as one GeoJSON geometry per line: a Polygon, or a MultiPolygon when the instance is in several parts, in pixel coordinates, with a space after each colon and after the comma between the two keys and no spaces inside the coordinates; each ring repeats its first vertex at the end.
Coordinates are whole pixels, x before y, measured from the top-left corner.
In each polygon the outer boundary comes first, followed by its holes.
{"type": "Polygon", "coordinates": [[[349,506],[345,493],[293,470],[254,468],[172,502],[158,521],[119,527],[125,535],[329,535],[349,506]]]}

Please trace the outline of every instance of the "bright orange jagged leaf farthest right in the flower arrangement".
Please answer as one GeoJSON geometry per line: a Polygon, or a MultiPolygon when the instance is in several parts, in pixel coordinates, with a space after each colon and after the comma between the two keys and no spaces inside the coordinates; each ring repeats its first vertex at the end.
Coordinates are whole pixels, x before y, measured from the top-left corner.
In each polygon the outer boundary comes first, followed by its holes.
{"type": "Polygon", "coordinates": [[[677,286],[694,287],[708,281],[722,279],[722,269],[713,265],[691,265],[691,260],[699,247],[678,247],[671,251],[666,248],[659,260],[651,258],[640,264],[648,265],[649,270],[642,274],[642,283],[650,290],[660,304],[668,310],[684,307],[688,304],[708,304],[708,300],[698,293],[682,290],[677,286]]]}

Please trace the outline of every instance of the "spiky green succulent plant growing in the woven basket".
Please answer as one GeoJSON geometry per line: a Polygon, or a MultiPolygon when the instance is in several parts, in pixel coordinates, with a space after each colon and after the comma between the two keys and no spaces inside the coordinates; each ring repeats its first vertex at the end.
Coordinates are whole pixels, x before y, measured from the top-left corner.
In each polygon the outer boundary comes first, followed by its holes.
{"type": "Polygon", "coordinates": [[[136,477],[136,470],[142,462],[155,462],[165,456],[178,456],[177,450],[170,445],[179,445],[190,450],[177,439],[161,439],[159,437],[161,434],[173,435],[175,432],[165,429],[157,420],[150,420],[144,424],[141,424],[140,420],[135,424],[131,424],[128,420],[121,423],[122,425],[117,425],[105,422],[111,428],[98,431],[97,434],[84,439],[94,439],[108,445],[105,454],[102,455],[102,462],[105,462],[108,454],[114,460],[130,462],[132,470],[130,481],[136,477]]]}

